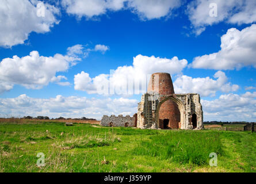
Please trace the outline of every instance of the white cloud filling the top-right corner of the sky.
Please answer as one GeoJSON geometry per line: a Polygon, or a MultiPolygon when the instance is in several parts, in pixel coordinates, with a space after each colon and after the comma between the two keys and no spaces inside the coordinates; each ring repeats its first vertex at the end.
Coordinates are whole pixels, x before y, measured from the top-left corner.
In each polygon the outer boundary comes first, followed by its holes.
{"type": "Polygon", "coordinates": [[[208,25],[226,21],[232,24],[251,24],[256,21],[256,1],[253,0],[196,0],[188,5],[189,20],[195,33],[201,34],[208,25]],[[209,16],[211,3],[217,5],[217,16],[209,16]]]}

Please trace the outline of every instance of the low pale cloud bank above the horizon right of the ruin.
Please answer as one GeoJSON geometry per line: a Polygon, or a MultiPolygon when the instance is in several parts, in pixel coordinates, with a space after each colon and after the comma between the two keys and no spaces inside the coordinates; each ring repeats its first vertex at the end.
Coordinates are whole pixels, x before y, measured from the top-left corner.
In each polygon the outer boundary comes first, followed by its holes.
{"type": "Polygon", "coordinates": [[[223,94],[213,101],[201,100],[205,121],[255,121],[256,92],[223,94]]]}

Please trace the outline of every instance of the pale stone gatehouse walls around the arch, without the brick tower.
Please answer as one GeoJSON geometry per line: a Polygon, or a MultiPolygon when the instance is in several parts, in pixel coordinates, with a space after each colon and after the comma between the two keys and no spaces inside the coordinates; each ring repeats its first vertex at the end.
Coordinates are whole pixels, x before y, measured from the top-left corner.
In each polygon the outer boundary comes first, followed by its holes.
{"type": "Polygon", "coordinates": [[[142,129],[161,128],[159,127],[159,109],[166,99],[171,99],[179,106],[181,113],[179,128],[193,129],[192,114],[196,114],[197,116],[197,127],[194,129],[203,128],[200,95],[194,93],[171,95],[159,95],[157,93],[143,94],[142,101],[138,106],[137,127],[142,129]]]}

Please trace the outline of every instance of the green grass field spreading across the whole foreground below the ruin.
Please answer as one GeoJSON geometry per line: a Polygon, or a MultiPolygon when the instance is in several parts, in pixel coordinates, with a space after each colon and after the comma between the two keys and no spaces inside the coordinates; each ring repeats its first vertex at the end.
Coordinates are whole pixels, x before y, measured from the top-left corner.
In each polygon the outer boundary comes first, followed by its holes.
{"type": "Polygon", "coordinates": [[[0,172],[255,171],[256,133],[0,123],[0,172]],[[209,166],[211,152],[217,167],[209,166]]]}

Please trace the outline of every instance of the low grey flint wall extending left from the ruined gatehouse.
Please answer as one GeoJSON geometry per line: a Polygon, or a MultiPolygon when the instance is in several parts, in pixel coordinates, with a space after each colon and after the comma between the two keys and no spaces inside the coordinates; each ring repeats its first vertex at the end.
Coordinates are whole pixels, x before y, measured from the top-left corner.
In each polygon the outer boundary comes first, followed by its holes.
{"type": "Polygon", "coordinates": [[[104,115],[101,120],[102,126],[105,127],[136,127],[136,114],[131,117],[131,116],[106,116],[104,115]]]}

